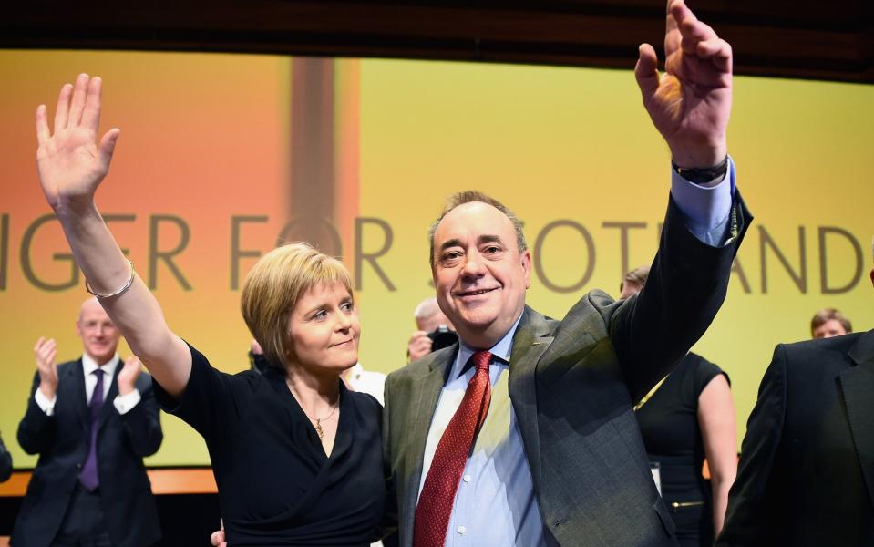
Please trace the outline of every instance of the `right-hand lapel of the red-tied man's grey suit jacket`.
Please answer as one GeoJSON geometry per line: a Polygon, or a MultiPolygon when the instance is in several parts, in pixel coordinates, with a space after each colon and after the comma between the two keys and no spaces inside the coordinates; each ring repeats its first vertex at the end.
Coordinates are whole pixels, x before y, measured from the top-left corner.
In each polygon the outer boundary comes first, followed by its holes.
{"type": "Polygon", "coordinates": [[[537,384],[540,356],[552,343],[546,318],[526,306],[509,356],[509,398],[519,423],[522,444],[535,485],[540,485],[540,437],[537,428],[537,384]]]}

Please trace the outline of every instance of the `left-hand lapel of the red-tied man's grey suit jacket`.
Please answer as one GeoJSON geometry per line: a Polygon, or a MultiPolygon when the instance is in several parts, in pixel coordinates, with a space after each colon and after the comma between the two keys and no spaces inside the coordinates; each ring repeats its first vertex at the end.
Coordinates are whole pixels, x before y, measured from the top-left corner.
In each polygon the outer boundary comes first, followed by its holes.
{"type": "MultiPolygon", "coordinates": [[[[418,375],[411,378],[414,382],[414,389],[411,390],[413,398],[409,401],[409,405],[404,407],[410,412],[410,418],[406,428],[406,442],[409,445],[406,453],[409,454],[409,458],[406,461],[407,469],[401,474],[402,477],[407,478],[403,492],[406,503],[403,504],[403,514],[400,515],[402,522],[412,522],[416,516],[416,500],[419,483],[422,481],[428,430],[431,428],[431,419],[434,418],[434,412],[437,410],[437,400],[446,383],[449,368],[457,355],[458,342],[451,350],[438,352],[430,363],[427,361],[423,363],[425,366],[418,368],[418,375]]],[[[412,532],[410,529],[409,543],[412,543],[412,532]]]]}

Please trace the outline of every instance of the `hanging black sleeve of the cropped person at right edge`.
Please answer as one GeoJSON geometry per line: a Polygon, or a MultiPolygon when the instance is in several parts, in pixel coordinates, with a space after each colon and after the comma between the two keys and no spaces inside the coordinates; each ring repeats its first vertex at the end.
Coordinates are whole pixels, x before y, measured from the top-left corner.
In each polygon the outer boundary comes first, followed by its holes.
{"type": "Polygon", "coordinates": [[[725,527],[717,545],[783,544],[788,491],[784,422],[787,400],[786,349],[776,346],[753,413],[746,423],[737,479],[728,494],[725,527]]]}

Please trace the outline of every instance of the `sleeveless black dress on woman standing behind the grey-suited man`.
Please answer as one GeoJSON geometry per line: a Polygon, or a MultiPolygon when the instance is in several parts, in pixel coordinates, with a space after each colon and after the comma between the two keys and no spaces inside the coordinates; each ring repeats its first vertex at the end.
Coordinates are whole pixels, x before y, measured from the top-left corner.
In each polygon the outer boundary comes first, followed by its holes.
{"type": "Polygon", "coordinates": [[[701,474],[698,396],[720,374],[725,372],[718,366],[690,353],[637,411],[647,456],[661,466],[662,498],[684,547],[714,544],[713,497],[701,474]]]}

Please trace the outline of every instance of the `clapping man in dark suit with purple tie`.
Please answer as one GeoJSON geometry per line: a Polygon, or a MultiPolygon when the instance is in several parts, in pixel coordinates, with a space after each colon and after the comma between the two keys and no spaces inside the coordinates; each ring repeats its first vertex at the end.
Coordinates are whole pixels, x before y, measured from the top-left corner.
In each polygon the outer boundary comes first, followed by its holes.
{"type": "Polygon", "coordinates": [[[121,363],[120,335],[97,299],[76,323],[84,354],[55,365],[54,340],[36,342],[37,372],[18,442],[39,454],[15,521],[15,547],[118,545],[160,539],[143,457],[163,434],[151,378],[121,363]],[[105,404],[104,404],[105,401],[105,404]]]}

